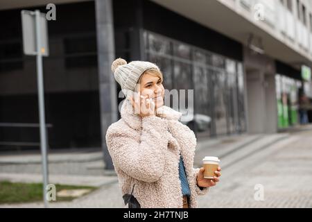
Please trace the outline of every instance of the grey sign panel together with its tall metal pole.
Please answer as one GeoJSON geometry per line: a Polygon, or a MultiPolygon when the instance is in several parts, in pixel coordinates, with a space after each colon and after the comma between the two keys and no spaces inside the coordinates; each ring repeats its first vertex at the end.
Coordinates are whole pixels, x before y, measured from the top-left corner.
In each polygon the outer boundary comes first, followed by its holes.
{"type": "Polygon", "coordinates": [[[40,121],[40,147],[42,153],[42,174],[43,174],[43,198],[44,206],[48,207],[46,197],[46,187],[48,187],[48,160],[46,151],[46,121],[44,114],[44,82],[42,71],[42,56],[49,56],[48,31],[46,15],[40,13],[22,10],[21,25],[23,33],[24,53],[28,56],[37,58],[37,87],[39,103],[39,121],[40,121]]]}

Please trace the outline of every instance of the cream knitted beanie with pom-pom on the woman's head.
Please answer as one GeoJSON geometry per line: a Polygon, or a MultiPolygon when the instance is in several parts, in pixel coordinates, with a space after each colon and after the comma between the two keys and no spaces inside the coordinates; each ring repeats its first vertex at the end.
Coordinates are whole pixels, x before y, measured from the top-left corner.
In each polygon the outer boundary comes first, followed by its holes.
{"type": "Polygon", "coordinates": [[[152,62],[132,61],[127,63],[122,58],[117,58],[112,63],[114,78],[125,95],[128,95],[129,91],[134,92],[140,76],[144,74],[144,71],[152,68],[159,70],[159,67],[152,62]]]}

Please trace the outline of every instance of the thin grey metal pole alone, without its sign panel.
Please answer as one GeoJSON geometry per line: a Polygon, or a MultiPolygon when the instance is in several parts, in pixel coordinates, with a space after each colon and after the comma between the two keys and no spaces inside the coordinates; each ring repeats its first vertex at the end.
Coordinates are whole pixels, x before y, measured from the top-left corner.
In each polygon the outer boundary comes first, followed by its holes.
{"type": "Polygon", "coordinates": [[[36,39],[37,39],[37,87],[38,87],[38,102],[39,102],[39,116],[40,116],[40,143],[42,153],[42,174],[43,174],[43,198],[44,207],[48,206],[46,200],[46,186],[48,185],[48,167],[46,157],[46,121],[44,117],[44,83],[42,74],[42,44],[41,44],[41,26],[40,26],[40,11],[35,10],[35,23],[36,23],[36,39]]]}

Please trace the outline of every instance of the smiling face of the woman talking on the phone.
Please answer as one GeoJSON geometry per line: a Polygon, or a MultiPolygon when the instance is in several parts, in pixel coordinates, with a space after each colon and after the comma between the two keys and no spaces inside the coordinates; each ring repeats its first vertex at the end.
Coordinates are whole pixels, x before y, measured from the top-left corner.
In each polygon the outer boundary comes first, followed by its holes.
{"type": "Polygon", "coordinates": [[[144,74],[141,78],[140,92],[142,96],[148,95],[148,99],[153,99],[155,109],[164,105],[164,86],[161,78],[144,74]]]}

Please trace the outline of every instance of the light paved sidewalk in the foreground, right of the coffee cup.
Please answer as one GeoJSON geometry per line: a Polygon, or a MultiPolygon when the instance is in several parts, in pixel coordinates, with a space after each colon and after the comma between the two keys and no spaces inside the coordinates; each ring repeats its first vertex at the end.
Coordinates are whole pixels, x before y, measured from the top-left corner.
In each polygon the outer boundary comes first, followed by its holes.
{"type": "MultiPolygon", "coordinates": [[[[227,160],[232,159],[229,155],[227,160]]],[[[223,159],[223,162],[226,158],[223,159]]],[[[223,167],[200,207],[312,207],[312,131],[285,139],[223,167]],[[263,200],[254,198],[263,191],[263,200]]]]}

